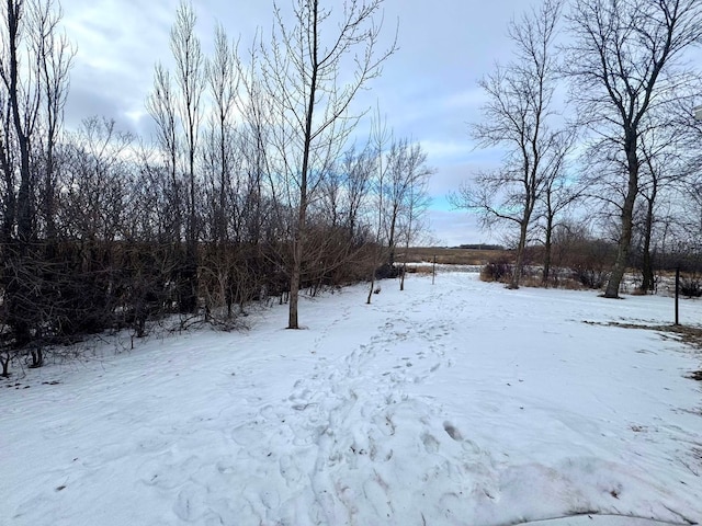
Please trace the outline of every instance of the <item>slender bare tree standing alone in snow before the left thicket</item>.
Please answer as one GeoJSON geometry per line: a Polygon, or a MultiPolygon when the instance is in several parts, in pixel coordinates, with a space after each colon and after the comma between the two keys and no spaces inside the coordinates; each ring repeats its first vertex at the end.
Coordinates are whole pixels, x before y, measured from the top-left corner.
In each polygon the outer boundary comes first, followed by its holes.
{"type": "Polygon", "coordinates": [[[335,11],[320,0],[295,0],[292,28],[275,5],[276,30],[264,50],[263,78],[274,103],[286,205],[295,210],[288,329],[299,328],[307,208],[361,116],[351,112],[351,103],[395,50],[395,44],[377,49],[382,4],[383,0],[351,1],[335,11]]]}

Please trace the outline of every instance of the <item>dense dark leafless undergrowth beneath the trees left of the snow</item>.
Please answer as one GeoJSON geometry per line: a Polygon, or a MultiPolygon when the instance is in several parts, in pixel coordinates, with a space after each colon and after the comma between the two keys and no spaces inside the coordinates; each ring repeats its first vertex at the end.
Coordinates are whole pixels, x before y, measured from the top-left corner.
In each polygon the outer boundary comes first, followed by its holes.
{"type": "MultiPolygon", "coordinates": [[[[339,232],[318,232],[310,242],[303,288],[313,294],[367,278],[372,264],[366,244],[339,232]],[[329,248],[335,240],[337,251],[329,248]]],[[[34,243],[23,254],[3,247],[0,281],[0,365],[19,355],[39,367],[44,348],[75,342],[87,334],[128,329],[137,338],[152,322],[181,313],[184,321],[236,327],[251,301],[288,290],[285,244],[201,243],[197,248],[197,305],[184,312],[183,248],[174,243],[136,241],[64,241],[34,243]]]]}

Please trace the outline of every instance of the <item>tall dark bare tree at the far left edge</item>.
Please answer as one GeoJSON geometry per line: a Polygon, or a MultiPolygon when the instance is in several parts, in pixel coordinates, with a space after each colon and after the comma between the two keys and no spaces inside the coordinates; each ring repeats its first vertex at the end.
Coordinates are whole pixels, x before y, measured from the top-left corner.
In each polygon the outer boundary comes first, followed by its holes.
{"type": "MultiPolygon", "coordinates": [[[[68,89],[72,50],[58,35],[60,10],[42,0],[7,0],[0,7],[0,169],[3,172],[3,311],[13,345],[22,347],[43,331],[46,272],[37,244],[38,187],[44,205],[53,196],[53,152],[68,89]],[[48,156],[48,157],[47,157],[48,156]],[[41,167],[44,162],[44,167],[41,167]],[[39,181],[41,170],[46,179],[39,181]],[[48,199],[48,201],[47,201],[48,199]]],[[[52,217],[44,210],[47,225],[52,217]]],[[[43,353],[33,353],[33,366],[43,353]]]]}

